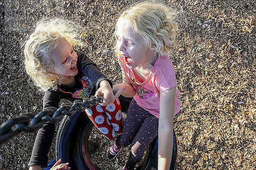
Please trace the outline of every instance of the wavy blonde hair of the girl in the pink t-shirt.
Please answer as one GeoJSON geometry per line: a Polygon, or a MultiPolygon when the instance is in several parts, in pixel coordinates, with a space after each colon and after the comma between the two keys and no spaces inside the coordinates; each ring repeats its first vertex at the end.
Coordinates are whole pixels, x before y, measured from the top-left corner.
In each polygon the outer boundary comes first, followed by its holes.
{"type": "MultiPolygon", "coordinates": [[[[154,0],[139,2],[121,14],[116,30],[120,21],[127,21],[143,38],[146,48],[169,57],[177,44],[178,26],[175,17],[178,13],[174,8],[154,0]]],[[[117,47],[115,51],[118,54],[117,47]]]]}

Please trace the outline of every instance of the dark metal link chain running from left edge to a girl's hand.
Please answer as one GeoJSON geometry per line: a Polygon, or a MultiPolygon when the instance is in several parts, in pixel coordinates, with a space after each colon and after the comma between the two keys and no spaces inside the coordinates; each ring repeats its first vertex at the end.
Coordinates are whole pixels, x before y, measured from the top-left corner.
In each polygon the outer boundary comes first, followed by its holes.
{"type": "Polygon", "coordinates": [[[23,132],[35,132],[42,127],[46,122],[60,122],[64,115],[74,116],[77,111],[84,111],[86,108],[91,108],[93,105],[99,105],[103,102],[102,96],[91,96],[75,100],[73,105],[64,103],[60,108],[47,107],[37,115],[26,113],[15,118],[12,118],[0,125],[0,145],[9,141],[13,136],[23,132]]]}

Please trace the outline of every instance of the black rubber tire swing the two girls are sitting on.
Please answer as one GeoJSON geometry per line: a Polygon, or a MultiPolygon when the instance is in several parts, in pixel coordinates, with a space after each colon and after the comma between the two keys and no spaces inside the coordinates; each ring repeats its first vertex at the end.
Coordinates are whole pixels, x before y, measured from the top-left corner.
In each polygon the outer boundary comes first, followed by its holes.
{"type": "MultiPolygon", "coordinates": [[[[122,111],[126,112],[131,99],[119,97],[122,111]]],[[[69,162],[72,170],[101,170],[90,157],[89,136],[94,125],[83,112],[73,117],[65,116],[58,130],[56,141],[56,160],[69,162]]],[[[177,157],[177,142],[173,133],[172,162],[170,170],[174,170],[177,157]]],[[[158,138],[149,144],[143,162],[136,170],[157,170],[158,138]]]]}

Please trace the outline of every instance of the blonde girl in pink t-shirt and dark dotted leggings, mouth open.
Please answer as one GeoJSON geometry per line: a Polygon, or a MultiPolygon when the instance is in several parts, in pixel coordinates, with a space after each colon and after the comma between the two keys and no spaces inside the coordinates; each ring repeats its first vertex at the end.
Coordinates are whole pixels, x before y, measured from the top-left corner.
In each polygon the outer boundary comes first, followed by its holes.
{"type": "Polygon", "coordinates": [[[137,3],[116,23],[116,54],[123,83],[113,85],[115,98],[133,97],[121,135],[109,147],[113,159],[131,144],[123,170],[131,170],[158,135],[158,170],[169,170],[173,148],[173,119],[180,111],[179,91],[170,52],[176,45],[177,11],[155,1],[137,3]]]}

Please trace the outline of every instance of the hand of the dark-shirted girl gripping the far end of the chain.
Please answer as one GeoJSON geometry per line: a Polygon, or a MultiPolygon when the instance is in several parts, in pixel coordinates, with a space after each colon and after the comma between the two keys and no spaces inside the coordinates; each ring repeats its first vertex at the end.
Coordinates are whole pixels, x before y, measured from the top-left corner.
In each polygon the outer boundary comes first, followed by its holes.
{"type": "Polygon", "coordinates": [[[103,96],[103,102],[101,103],[102,106],[108,105],[114,102],[114,94],[112,88],[107,80],[102,80],[99,83],[100,87],[96,91],[95,96],[103,96]]]}

